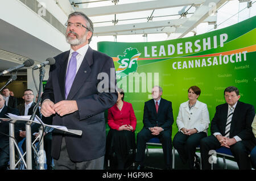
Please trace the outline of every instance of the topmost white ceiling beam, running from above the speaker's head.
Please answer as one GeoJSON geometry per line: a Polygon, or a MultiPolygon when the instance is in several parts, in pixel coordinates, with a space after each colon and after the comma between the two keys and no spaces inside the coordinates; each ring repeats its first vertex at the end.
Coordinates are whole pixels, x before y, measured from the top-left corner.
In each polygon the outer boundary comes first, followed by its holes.
{"type": "Polygon", "coordinates": [[[112,5],[112,6],[101,6],[101,7],[91,7],[85,9],[79,9],[79,11],[84,12],[87,16],[103,16],[111,14],[121,14],[127,12],[137,12],[137,11],[147,11],[164,9],[177,6],[188,6],[188,5],[200,5],[204,3],[205,0],[179,0],[179,1],[147,1],[147,2],[137,2],[137,3],[126,3],[122,5],[112,5]]]}

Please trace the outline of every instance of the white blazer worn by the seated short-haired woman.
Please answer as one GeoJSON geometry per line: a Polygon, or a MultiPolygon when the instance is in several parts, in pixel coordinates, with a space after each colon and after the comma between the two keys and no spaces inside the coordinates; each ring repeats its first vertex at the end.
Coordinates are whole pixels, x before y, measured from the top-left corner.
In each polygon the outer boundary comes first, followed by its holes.
{"type": "Polygon", "coordinates": [[[198,132],[207,133],[210,124],[207,104],[196,100],[195,106],[189,111],[188,101],[180,104],[179,115],[176,120],[179,131],[181,128],[196,128],[198,132]]]}

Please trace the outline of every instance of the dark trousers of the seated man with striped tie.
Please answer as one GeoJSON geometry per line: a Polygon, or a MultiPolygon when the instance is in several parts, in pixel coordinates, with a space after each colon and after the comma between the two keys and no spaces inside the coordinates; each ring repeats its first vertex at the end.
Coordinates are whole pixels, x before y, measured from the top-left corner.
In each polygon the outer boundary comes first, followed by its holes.
{"type": "MultiPolygon", "coordinates": [[[[250,140],[238,141],[236,144],[230,146],[230,151],[236,159],[239,169],[251,169],[250,158],[248,155],[250,154],[252,146],[253,142],[250,140]]],[[[211,154],[209,154],[209,151],[219,148],[221,148],[221,144],[213,135],[205,137],[201,140],[200,153],[202,159],[202,169],[210,169],[209,157],[211,154]]]]}

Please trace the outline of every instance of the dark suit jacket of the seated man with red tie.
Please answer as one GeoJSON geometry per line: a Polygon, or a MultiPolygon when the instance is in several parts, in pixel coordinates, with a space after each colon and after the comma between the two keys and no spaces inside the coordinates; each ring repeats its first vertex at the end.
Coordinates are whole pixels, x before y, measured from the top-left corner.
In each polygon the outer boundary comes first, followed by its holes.
{"type": "Polygon", "coordinates": [[[172,114],[172,102],[161,98],[156,113],[154,99],[148,100],[144,104],[143,124],[146,128],[161,127],[166,131],[172,129],[174,116],[172,114]]]}

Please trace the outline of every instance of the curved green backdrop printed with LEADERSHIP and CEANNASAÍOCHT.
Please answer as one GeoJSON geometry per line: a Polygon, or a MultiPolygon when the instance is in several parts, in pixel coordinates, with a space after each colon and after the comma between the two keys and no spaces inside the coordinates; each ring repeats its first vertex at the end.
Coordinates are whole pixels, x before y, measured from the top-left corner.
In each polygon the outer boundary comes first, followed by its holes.
{"type": "MultiPolygon", "coordinates": [[[[113,57],[118,86],[125,101],[133,104],[137,117],[135,133],[143,127],[144,102],[151,88],[163,88],[163,98],[172,102],[174,124],[181,103],[188,100],[190,86],[201,89],[199,100],[208,106],[212,120],[217,105],[225,103],[224,89],[236,86],[240,100],[256,106],[256,16],[221,30],[183,39],[143,42],[99,42],[98,50],[113,57]]],[[[157,36],[157,35],[156,35],[157,36]]],[[[209,129],[208,129],[209,132],[209,129]]]]}

